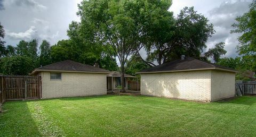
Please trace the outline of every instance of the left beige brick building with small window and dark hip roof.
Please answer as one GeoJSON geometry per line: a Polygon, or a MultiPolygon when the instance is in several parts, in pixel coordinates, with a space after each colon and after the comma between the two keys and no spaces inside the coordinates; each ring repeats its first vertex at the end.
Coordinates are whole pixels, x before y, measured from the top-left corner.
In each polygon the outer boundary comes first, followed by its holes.
{"type": "Polygon", "coordinates": [[[67,60],[39,67],[30,75],[41,76],[41,98],[60,98],[106,95],[108,73],[98,66],[67,60]]]}

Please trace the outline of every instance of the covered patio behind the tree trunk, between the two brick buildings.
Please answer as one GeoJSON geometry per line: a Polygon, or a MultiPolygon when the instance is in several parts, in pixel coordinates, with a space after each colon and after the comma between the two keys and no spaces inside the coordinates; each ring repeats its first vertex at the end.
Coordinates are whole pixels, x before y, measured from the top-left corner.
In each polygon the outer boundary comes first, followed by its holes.
{"type": "MultiPolygon", "coordinates": [[[[140,83],[137,76],[124,74],[125,78],[125,90],[126,91],[140,91],[140,83]]],[[[107,91],[119,91],[121,87],[121,74],[117,71],[113,71],[107,74],[107,91]]]]}

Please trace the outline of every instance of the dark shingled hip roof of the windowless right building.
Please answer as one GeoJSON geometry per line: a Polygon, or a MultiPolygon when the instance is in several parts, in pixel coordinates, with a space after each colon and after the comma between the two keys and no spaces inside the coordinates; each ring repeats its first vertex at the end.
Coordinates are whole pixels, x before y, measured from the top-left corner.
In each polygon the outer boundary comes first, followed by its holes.
{"type": "Polygon", "coordinates": [[[177,72],[177,71],[195,71],[195,70],[222,70],[229,72],[238,72],[228,67],[220,66],[213,63],[199,61],[191,57],[177,59],[175,61],[164,63],[137,73],[158,73],[158,72],[177,72]]]}

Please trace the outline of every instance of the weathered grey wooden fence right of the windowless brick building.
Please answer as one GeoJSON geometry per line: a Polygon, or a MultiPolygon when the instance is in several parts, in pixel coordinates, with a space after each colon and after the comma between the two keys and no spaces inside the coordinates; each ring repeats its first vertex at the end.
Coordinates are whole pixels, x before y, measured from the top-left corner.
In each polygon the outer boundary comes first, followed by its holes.
{"type": "Polygon", "coordinates": [[[256,81],[236,81],[236,95],[256,95],[256,81]]]}

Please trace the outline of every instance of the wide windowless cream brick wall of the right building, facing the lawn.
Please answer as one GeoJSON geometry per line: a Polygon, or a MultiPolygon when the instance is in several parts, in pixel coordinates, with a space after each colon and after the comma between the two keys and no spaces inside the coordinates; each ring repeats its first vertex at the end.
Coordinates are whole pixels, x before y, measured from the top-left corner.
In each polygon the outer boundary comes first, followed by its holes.
{"type": "Polygon", "coordinates": [[[211,71],[141,74],[141,95],[210,101],[211,71]]]}

